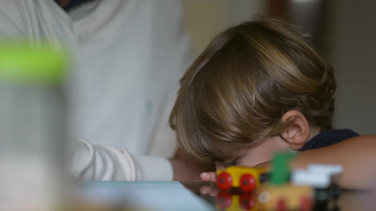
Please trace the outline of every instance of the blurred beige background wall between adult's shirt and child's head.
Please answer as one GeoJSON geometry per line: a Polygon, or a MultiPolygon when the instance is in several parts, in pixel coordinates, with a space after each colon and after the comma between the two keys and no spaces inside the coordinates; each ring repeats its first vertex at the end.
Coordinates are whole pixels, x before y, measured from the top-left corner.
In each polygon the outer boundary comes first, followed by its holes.
{"type": "Polygon", "coordinates": [[[217,33],[233,24],[265,13],[262,0],[183,0],[185,24],[192,36],[196,58],[217,33]]]}

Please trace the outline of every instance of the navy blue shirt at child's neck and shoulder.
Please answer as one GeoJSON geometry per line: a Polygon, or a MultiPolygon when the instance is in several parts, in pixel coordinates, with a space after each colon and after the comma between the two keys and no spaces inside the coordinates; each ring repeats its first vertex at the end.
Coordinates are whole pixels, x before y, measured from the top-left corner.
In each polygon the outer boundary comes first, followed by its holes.
{"type": "Polygon", "coordinates": [[[299,151],[329,146],[355,136],[359,136],[359,134],[349,129],[326,130],[317,134],[315,137],[305,143],[305,145],[299,151]]]}

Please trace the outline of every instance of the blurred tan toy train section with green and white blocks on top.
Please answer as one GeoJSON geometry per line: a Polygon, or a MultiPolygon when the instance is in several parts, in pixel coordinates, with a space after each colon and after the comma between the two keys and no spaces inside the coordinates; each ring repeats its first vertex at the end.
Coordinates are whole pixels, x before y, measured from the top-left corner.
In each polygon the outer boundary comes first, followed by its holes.
{"type": "Polygon", "coordinates": [[[329,200],[339,196],[333,178],[342,173],[342,166],[310,164],[290,173],[287,162],[293,157],[291,154],[274,157],[270,184],[257,189],[261,210],[324,210],[329,200]]]}

